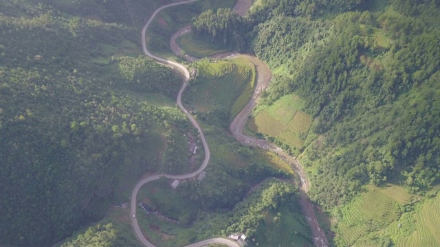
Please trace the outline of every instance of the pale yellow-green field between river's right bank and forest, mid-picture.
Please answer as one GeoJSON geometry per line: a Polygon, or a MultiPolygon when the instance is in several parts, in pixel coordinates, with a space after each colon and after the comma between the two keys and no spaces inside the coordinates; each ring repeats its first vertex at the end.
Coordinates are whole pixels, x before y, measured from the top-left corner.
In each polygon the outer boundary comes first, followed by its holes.
{"type": "Polygon", "coordinates": [[[307,133],[312,120],[300,110],[303,106],[304,101],[297,95],[285,95],[269,107],[257,108],[246,127],[301,148],[305,141],[302,135],[307,133]]]}

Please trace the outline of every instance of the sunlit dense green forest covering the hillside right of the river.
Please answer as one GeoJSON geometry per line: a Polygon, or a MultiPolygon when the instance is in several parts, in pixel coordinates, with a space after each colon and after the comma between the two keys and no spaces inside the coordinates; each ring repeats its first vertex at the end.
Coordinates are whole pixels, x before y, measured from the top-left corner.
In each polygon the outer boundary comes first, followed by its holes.
{"type": "Polygon", "coordinates": [[[261,1],[192,20],[195,37],[244,47],[274,71],[261,106],[305,99],[311,198],[325,209],[360,185],[424,193],[439,181],[440,6],[436,1],[261,1]],[[347,12],[353,10],[352,12],[347,12]],[[224,14],[226,13],[226,14],[224,14]],[[239,25],[237,25],[239,23],[239,25]]]}

